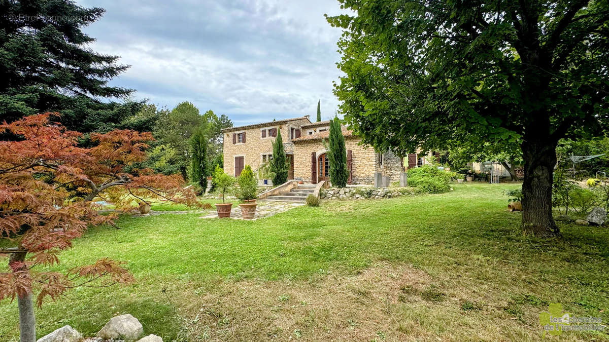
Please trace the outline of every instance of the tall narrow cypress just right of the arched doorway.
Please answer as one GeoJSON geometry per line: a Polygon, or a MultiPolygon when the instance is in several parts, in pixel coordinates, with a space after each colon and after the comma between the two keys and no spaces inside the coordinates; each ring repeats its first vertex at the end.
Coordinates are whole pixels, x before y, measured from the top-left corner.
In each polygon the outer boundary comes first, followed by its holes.
{"type": "Polygon", "coordinates": [[[345,187],[349,177],[347,169],[347,149],[345,148],[345,137],[340,128],[340,120],[334,117],[330,120],[330,132],[328,144],[324,142],[326,150],[328,150],[328,160],[330,163],[330,181],[332,186],[345,187]]]}

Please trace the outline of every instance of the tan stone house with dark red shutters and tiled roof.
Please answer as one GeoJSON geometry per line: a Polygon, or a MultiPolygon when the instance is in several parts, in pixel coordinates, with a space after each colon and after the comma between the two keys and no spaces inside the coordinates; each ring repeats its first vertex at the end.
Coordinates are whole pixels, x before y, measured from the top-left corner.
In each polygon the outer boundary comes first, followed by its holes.
{"type": "MultiPolygon", "coordinates": [[[[372,147],[360,145],[361,139],[342,128],[347,148],[350,184],[373,184],[375,172],[400,179],[403,159],[391,152],[376,153],[372,147]]],[[[329,181],[329,161],[323,143],[329,135],[329,121],[311,122],[309,116],[230,127],[222,130],[224,137],[224,170],[239,176],[247,164],[253,170],[272,158],[272,141],[281,134],[287,160],[288,179],[317,184],[329,181]]]]}

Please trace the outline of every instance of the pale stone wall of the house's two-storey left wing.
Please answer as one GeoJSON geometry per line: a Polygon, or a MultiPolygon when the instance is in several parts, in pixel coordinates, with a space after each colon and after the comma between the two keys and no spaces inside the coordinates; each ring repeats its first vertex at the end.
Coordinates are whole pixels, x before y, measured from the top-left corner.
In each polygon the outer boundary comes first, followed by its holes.
{"type": "MultiPolygon", "coordinates": [[[[269,128],[279,128],[281,138],[284,142],[286,153],[292,152],[294,144],[290,140],[290,128],[300,128],[301,125],[309,124],[309,120],[299,119],[292,120],[281,125],[268,125],[264,127],[249,128],[246,130],[234,130],[225,132],[224,138],[224,171],[229,175],[234,176],[234,158],[236,156],[244,156],[244,165],[249,165],[256,172],[260,164],[262,164],[262,154],[272,154],[274,137],[267,136],[261,138],[261,130],[269,128]],[[245,132],[245,142],[233,144],[233,133],[245,132]]],[[[311,158],[311,156],[309,156],[311,158]]],[[[309,164],[311,162],[309,161],[309,164]]]]}

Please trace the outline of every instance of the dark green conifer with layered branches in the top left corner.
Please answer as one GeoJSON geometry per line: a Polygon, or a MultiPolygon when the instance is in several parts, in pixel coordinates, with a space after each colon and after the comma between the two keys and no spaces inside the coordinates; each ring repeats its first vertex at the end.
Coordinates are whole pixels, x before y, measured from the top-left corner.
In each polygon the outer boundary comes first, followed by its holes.
{"type": "Polygon", "coordinates": [[[81,30],[103,14],[68,0],[0,1],[2,120],[61,111],[66,127],[85,133],[118,128],[138,111],[132,89],[108,85],[128,66],[92,51],[94,38],[81,30]]]}

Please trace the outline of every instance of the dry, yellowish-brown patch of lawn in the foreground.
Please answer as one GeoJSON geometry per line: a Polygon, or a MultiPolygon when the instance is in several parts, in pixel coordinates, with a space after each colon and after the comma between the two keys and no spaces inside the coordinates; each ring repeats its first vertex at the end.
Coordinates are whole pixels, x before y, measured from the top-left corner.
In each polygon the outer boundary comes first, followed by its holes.
{"type": "Polygon", "coordinates": [[[538,311],[515,317],[501,293],[482,298],[446,288],[412,265],[381,262],[351,276],[216,282],[188,292],[192,298],[178,305],[192,341],[542,339],[540,326],[523,321],[538,311]]]}

